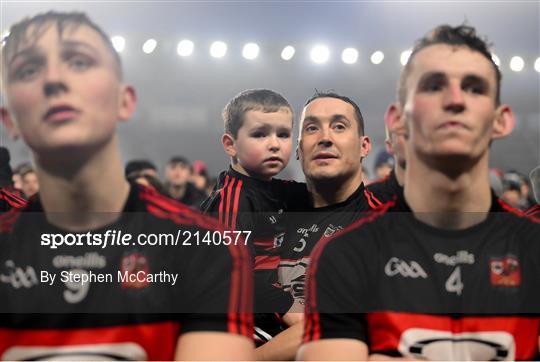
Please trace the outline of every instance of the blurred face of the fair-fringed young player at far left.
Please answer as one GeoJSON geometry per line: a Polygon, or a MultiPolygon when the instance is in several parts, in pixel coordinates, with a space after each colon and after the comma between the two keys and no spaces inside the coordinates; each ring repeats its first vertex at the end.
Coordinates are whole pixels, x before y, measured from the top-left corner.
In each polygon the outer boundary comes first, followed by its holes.
{"type": "Polygon", "coordinates": [[[39,38],[27,37],[7,59],[4,121],[14,122],[36,153],[106,144],[116,121],[128,119],[135,102],[117,69],[93,29],[68,26],[60,34],[51,23],[39,38]]]}

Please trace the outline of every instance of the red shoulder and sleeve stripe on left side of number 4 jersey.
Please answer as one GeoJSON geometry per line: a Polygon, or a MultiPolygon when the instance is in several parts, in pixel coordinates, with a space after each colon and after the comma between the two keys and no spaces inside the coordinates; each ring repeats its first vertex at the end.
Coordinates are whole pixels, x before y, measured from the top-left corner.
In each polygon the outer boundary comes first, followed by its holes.
{"type": "Polygon", "coordinates": [[[390,207],[394,205],[394,202],[390,201],[386,204],[383,204],[378,210],[368,214],[365,217],[362,217],[358,220],[356,220],[351,225],[347,226],[346,228],[339,230],[334,235],[332,235],[330,238],[321,239],[311,252],[311,261],[310,261],[310,267],[308,268],[308,272],[306,275],[306,282],[305,285],[307,287],[307,301],[306,301],[306,315],[308,316],[308,319],[312,319],[312,323],[305,323],[306,331],[304,332],[304,343],[310,342],[310,341],[316,341],[320,339],[321,335],[321,326],[320,326],[320,320],[319,320],[319,313],[317,312],[317,282],[316,282],[316,274],[317,274],[317,267],[319,264],[319,259],[321,257],[321,253],[328,245],[328,243],[332,240],[335,240],[337,237],[341,236],[342,234],[348,233],[354,229],[359,228],[365,223],[369,223],[380,217],[381,215],[384,215],[390,207]]]}

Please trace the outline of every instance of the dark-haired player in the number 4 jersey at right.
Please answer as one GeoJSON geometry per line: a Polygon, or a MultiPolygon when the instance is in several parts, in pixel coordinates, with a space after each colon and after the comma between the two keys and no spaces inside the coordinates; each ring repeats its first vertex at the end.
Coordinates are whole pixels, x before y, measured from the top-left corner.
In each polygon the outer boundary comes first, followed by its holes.
{"type": "Polygon", "coordinates": [[[499,89],[473,28],[440,26],[416,44],[387,113],[407,126],[409,212],[389,204],[319,243],[301,358],[537,357],[540,322],[525,313],[540,305],[540,225],[489,187],[490,143],[514,124],[499,89]]]}

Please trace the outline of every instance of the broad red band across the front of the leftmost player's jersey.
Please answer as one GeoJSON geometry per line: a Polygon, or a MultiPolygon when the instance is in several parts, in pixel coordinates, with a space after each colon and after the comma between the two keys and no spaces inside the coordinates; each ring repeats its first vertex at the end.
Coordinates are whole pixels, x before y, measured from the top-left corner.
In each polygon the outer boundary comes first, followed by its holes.
{"type": "MultiPolygon", "coordinates": [[[[0,358],[5,359],[8,357],[9,355],[4,355],[6,352],[19,354],[31,352],[31,347],[41,347],[44,349],[43,354],[46,354],[47,350],[49,350],[49,353],[58,353],[53,356],[56,359],[61,356],[61,349],[52,350],[47,349],[47,347],[90,347],[95,345],[96,353],[99,353],[99,351],[102,353],[112,351],[114,353],[114,344],[131,342],[140,346],[146,352],[146,356],[126,355],[123,356],[123,359],[172,360],[178,335],[179,324],[172,321],[77,329],[28,330],[0,328],[0,358]],[[103,346],[100,349],[100,344],[109,346],[108,348],[103,346]],[[18,347],[18,352],[13,350],[13,347],[18,347]]],[[[130,350],[133,352],[133,347],[130,350]]],[[[135,350],[136,352],[137,350],[135,350]]],[[[24,358],[22,354],[18,358],[13,355],[11,359],[24,358]]],[[[94,359],[98,359],[97,356],[99,355],[96,355],[94,359]]]]}

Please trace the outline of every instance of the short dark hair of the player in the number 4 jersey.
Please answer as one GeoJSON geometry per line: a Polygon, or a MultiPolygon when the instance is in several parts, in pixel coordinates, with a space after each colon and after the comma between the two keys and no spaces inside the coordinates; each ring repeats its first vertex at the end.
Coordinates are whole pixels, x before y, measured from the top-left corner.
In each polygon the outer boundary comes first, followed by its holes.
{"type": "Polygon", "coordinates": [[[501,97],[501,80],[502,75],[499,67],[493,61],[491,57],[491,52],[489,47],[492,46],[487,39],[482,39],[476,34],[476,29],[468,25],[459,25],[452,27],[450,25],[439,25],[430,32],[428,32],[424,37],[418,39],[412,49],[412,53],[407,61],[405,67],[401,71],[401,75],[398,83],[398,101],[402,105],[405,104],[407,98],[407,87],[406,80],[411,72],[412,60],[414,56],[420,52],[422,49],[425,49],[431,45],[436,44],[447,44],[454,46],[467,47],[471,50],[477,51],[482,54],[493,66],[496,74],[496,86],[497,93],[495,95],[495,103],[500,104],[501,97]]]}

